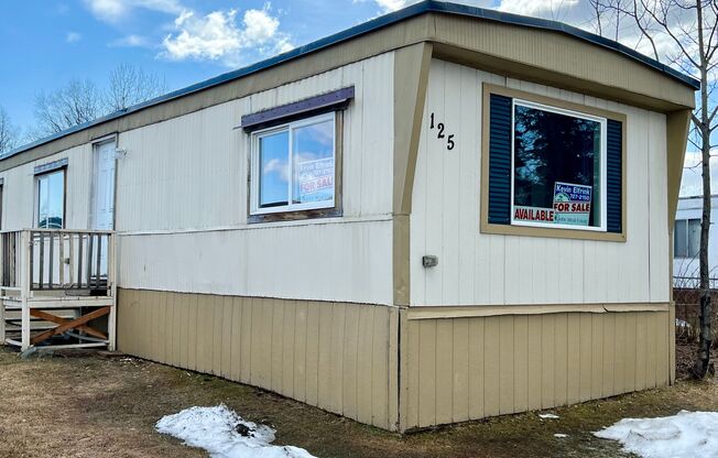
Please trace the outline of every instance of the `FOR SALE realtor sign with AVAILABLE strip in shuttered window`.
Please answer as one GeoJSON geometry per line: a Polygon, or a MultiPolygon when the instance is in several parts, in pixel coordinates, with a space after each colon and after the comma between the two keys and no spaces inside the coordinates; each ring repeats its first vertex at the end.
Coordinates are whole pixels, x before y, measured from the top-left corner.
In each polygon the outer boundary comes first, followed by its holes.
{"type": "Polygon", "coordinates": [[[514,206],[514,221],[588,226],[592,187],[556,182],[553,208],[514,206]]]}

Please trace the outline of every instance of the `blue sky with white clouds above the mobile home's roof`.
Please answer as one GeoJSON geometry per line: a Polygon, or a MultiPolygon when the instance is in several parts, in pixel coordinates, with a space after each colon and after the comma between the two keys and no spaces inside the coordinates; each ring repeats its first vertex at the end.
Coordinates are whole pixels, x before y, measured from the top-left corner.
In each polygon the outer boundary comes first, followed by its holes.
{"type": "MultiPolygon", "coordinates": [[[[102,87],[115,67],[131,64],[159,76],[166,90],[174,90],[414,2],[3,0],[0,107],[26,132],[34,122],[36,96],[73,79],[90,79],[102,87]]],[[[592,30],[588,0],[458,2],[592,30]]]]}

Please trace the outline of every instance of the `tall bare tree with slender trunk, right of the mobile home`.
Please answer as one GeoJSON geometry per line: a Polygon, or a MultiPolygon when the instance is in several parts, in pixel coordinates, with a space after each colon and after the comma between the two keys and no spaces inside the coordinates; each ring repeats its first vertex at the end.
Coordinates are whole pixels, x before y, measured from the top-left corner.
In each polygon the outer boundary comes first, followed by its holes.
{"type": "MultiPolygon", "coordinates": [[[[700,338],[694,366],[697,378],[705,378],[710,369],[711,304],[708,265],[710,230],[710,137],[718,128],[718,103],[712,97],[718,65],[718,2],[716,0],[595,0],[594,11],[607,11],[625,18],[638,35],[634,44],[649,42],[653,57],[663,59],[700,80],[700,94],[692,116],[688,141],[701,153],[703,216],[700,221],[700,338]],[[659,43],[667,43],[662,51],[659,43]]],[[[598,18],[596,18],[598,21],[598,18]]],[[[603,20],[605,22],[605,20],[603,20]]],[[[600,22],[599,22],[600,23],[600,22]]]]}

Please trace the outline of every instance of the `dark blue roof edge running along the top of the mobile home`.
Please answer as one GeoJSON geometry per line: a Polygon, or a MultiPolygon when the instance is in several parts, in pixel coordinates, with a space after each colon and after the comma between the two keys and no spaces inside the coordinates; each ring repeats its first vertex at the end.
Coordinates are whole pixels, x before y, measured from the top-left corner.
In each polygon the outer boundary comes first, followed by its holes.
{"type": "Polygon", "coordinates": [[[347,40],[351,40],[353,37],[373,32],[376,30],[382,29],[384,26],[394,24],[396,22],[403,21],[405,19],[410,19],[420,14],[424,14],[427,12],[440,12],[440,13],[448,13],[448,14],[461,14],[461,15],[468,15],[472,18],[479,18],[488,21],[497,21],[505,24],[513,24],[513,25],[521,25],[521,26],[530,26],[530,28],[535,28],[535,29],[542,29],[542,30],[547,30],[552,32],[558,32],[558,33],[564,33],[570,36],[574,36],[579,40],[584,40],[586,42],[592,43],[598,46],[602,46],[606,48],[609,48],[611,51],[618,52],[620,54],[623,54],[630,58],[633,58],[635,61],[639,61],[650,67],[655,68],[659,72],[665,73],[668,76],[673,77],[674,79],[679,80],[683,84],[686,84],[690,86],[694,89],[699,89],[700,88],[700,81],[697,79],[684,75],[681,72],[677,72],[667,65],[664,65],[649,56],[645,56],[634,50],[631,50],[628,46],[624,46],[618,42],[614,42],[612,40],[608,40],[606,37],[596,35],[590,32],[586,32],[581,29],[575,28],[573,25],[567,25],[564,23],[561,23],[558,21],[551,21],[546,19],[538,19],[538,18],[531,18],[531,17],[525,17],[525,15],[520,15],[520,14],[513,14],[513,13],[504,13],[501,11],[497,10],[489,10],[489,9],[483,9],[483,8],[478,8],[478,7],[470,7],[466,4],[457,4],[457,3],[452,3],[452,2],[445,2],[445,1],[435,1],[435,0],[425,0],[420,3],[412,4],[407,8],[404,8],[402,10],[381,15],[379,18],[372,19],[370,21],[363,22],[359,25],[355,25],[350,29],[344,30],[341,32],[335,33],[334,35],[326,36],[324,39],[319,39],[315,42],[312,42],[309,44],[303,45],[295,47],[292,51],[289,51],[283,54],[279,54],[274,57],[270,57],[268,59],[258,62],[255,64],[249,65],[243,68],[239,68],[237,70],[228,72],[225,74],[221,74],[219,76],[215,76],[213,78],[206,79],[200,83],[196,83],[194,85],[184,87],[182,89],[173,90],[171,92],[167,92],[163,96],[156,97],[154,99],[144,101],[142,103],[132,106],[130,108],[127,108],[124,110],[116,111],[112,113],[109,113],[107,116],[104,116],[101,118],[95,119],[93,121],[85,122],[83,124],[75,126],[70,129],[64,130],[62,132],[54,133],[50,137],[45,137],[43,139],[36,140],[32,143],[28,143],[25,145],[22,145],[20,148],[17,148],[9,153],[7,153],[3,156],[0,156],[0,161],[3,161],[6,159],[9,159],[11,156],[14,156],[17,154],[20,154],[24,151],[32,150],[33,148],[43,145],[45,143],[50,143],[54,140],[62,139],[63,137],[67,137],[72,133],[83,131],[85,129],[88,129],[93,126],[98,126],[107,121],[111,121],[113,119],[121,118],[126,115],[140,111],[144,108],[152,107],[155,105],[163,103],[165,101],[170,101],[173,99],[177,99],[184,96],[187,96],[189,94],[198,92],[205,89],[209,89],[215,86],[222,85],[225,83],[242,78],[244,76],[251,75],[253,73],[261,72],[263,69],[283,64],[289,61],[293,61],[295,58],[298,58],[305,54],[309,54],[319,50],[323,50],[325,47],[329,47],[331,45],[345,42],[347,40]]]}

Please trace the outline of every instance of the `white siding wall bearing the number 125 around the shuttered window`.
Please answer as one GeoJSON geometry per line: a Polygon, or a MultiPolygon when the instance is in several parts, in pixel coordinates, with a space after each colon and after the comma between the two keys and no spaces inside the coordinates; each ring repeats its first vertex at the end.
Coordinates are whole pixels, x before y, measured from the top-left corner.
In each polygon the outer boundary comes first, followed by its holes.
{"type": "Polygon", "coordinates": [[[424,113],[411,217],[412,305],[668,301],[663,115],[436,59],[424,113]],[[627,115],[627,242],[480,233],[485,81],[627,115]],[[455,134],[453,151],[427,129],[432,112],[455,134]],[[424,269],[425,254],[438,255],[438,266],[424,269]]]}

